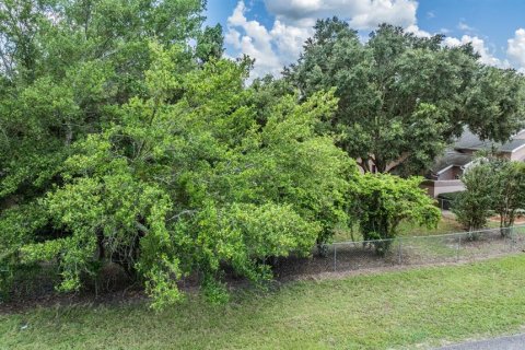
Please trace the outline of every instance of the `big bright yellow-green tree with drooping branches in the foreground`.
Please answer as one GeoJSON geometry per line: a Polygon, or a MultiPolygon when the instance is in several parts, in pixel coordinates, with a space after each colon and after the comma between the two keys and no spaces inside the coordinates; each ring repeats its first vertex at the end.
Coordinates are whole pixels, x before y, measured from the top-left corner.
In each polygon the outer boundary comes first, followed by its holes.
{"type": "Polygon", "coordinates": [[[260,124],[257,91],[244,88],[249,62],[180,70],[183,46],[149,50],[145,90],[105,108],[112,122],[72,142],[57,185],[38,197],[38,222],[56,234],[28,228],[14,256],[56,261],[62,291],[116,262],[161,307],[182,298],[183,277],[198,273],[205,294],[222,300],[224,267],[259,283],[271,276],[268,257],[307,256],[327,240],[346,220],[346,177],[357,172],[315,132],[337,100],[283,96],[260,124]]]}

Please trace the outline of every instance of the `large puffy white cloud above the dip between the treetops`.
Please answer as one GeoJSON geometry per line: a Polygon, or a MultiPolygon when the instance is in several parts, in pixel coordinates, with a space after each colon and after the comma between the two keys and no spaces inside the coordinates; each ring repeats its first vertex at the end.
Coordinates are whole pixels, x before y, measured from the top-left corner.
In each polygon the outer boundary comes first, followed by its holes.
{"type": "Polygon", "coordinates": [[[255,58],[252,78],[278,75],[283,66],[295,61],[304,42],[313,35],[317,19],[338,15],[357,30],[371,30],[386,22],[418,36],[430,36],[417,25],[416,0],[265,0],[265,4],[276,18],[271,28],[248,20],[249,10],[243,0],[228,19],[225,43],[237,57],[246,54],[255,58]]]}

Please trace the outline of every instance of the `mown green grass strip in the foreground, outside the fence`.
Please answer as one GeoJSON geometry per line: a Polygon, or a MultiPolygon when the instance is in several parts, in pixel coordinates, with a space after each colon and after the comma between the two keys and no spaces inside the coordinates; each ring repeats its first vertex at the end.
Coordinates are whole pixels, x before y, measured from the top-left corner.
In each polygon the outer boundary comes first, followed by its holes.
{"type": "Polygon", "coordinates": [[[392,349],[517,332],[525,254],[472,265],[302,281],[228,305],[198,298],[0,315],[3,349],[392,349]]]}

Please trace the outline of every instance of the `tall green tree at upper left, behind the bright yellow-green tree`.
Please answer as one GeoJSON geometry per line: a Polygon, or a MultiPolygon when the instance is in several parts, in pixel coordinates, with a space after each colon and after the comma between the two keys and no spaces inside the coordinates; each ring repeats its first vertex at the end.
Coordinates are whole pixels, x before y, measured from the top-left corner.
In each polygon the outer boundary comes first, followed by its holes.
{"type": "MultiPolygon", "coordinates": [[[[152,38],[187,46],[202,37],[199,44],[209,44],[198,45],[199,55],[214,54],[207,47],[220,36],[201,33],[203,5],[199,0],[2,1],[0,206],[40,196],[57,182],[75,140],[112,122],[107,109],[145,94],[152,38]]],[[[191,60],[182,62],[177,71],[191,69],[191,60]]]]}

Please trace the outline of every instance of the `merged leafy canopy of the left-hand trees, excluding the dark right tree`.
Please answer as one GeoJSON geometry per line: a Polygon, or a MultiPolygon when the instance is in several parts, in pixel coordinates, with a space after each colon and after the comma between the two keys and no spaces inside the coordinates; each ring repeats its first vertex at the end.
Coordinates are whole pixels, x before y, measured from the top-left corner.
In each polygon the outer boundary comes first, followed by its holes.
{"type": "Polygon", "coordinates": [[[346,220],[357,167],[316,131],[337,100],[270,105],[200,1],[128,2],[0,7],[1,264],[55,261],[72,291],[112,261],[156,306],[198,273],[221,300],[225,266],[260,282],[346,220]]]}

